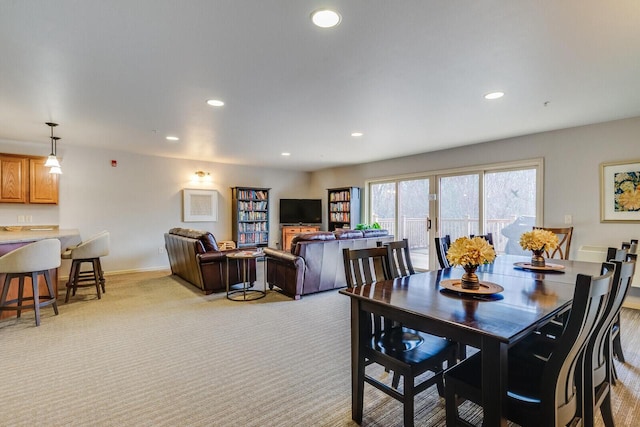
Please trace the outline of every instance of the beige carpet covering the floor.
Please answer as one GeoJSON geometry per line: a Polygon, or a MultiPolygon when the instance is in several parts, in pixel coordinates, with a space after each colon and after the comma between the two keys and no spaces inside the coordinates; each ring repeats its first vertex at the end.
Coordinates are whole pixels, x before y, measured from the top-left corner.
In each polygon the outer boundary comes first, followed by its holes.
{"type": "MultiPolygon", "coordinates": [[[[337,292],[232,302],[140,273],[108,276],[102,300],[82,289],[59,316],[42,313],[38,328],[32,313],[0,321],[1,426],[356,425],[349,300],[337,292]]],[[[626,310],[619,426],[640,418],[638,329],[626,310]]],[[[401,426],[402,407],[367,386],[362,425],[401,426]]],[[[417,399],[416,425],[444,425],[435,388],[417,399]]]]}

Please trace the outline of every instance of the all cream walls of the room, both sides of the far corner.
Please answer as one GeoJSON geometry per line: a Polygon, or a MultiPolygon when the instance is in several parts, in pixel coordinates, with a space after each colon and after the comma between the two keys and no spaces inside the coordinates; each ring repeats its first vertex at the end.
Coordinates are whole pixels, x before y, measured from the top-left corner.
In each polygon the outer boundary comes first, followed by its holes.
{"type": "MultiPolygon", "coordinates": [[[[46,155],[48,151],[44,143],[0,141],[0,152],[46,155]]],[[[544,225],[561,226],[565,214],[573,216],[572,256],[580,245],[618,246],[623,240],[640,237],[640,224],[600,223],[599,208],[599,165],[640,159],[640,117],[311,174],[64,144],[59,152],[64,170],[60,204],[1,204],[0,225],[16,224],[17,215],[32,215],[34,224],[77,228],[83,238],[109,230],[112,250],[103,261],[107,272],[167,268],[167,257],[158,248],[171,227],[206,229],[218,240],[230,240],[232,186],[272,188],[270,245],[275,246],[280,240],[279,198],[322,198],[326,210],[327,188],[363,187],[372,178],[535,157],[545,161],[544,225]],[[112,159],[118,161],[118,167],[111,167],[112,159]],[[219,192],[217,222],[182,222],[181,189],[191,186],[189,179],[196,170],[213,176],[212,187],[219,192]]]]}

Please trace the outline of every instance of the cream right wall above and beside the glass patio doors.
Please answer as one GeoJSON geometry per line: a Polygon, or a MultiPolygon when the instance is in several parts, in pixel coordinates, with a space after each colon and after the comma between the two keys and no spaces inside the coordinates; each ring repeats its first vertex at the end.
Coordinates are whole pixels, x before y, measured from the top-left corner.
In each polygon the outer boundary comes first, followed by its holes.
{"type": "Polygon", "coordinates": [[[311,185],[364,187],[372,178],[537,157],[544,158],[544,225],[561,227],[565,214],[573,216],[571,257],[580,245],[619,246],[640,238],[640,223],[600,222],[599,184],[600,163],[640,159],[640,117],[327,169],[312,173],[311,185]]]}

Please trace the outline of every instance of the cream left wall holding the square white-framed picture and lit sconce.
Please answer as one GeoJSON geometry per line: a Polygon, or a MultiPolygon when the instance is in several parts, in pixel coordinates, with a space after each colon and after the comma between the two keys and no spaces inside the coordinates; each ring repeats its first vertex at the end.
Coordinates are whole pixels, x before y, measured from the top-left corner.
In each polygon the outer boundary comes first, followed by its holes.
{"type": "MultiPolygon", "coordinates": [[[[62,144],[61,144],[62,145],[62,144]]],[[[61,148],[61,147],[59,147],[61,148]]],[[[0,152],[46,155],[46,144],[0,142],[0,152]]],[[[265,168],[144,156],[120,151],[66,146],[59,150],[64,174],[57,206],[0,205],[0,225],[32,215],[33,224],[77,228],[82,238],[111,233],[111,253],[103,259],[107,273],[168,268],[164,233],[172,227],[209,230],[217,240],[232,240],[231,187],[271,188],[270,245],[280,241],[278,199],[309,195],[309,174],[265,168]],[[118,166],[112,167],[111,160],[118,166]],[[208,171],[208,186],[190,182],[196,170],[208,171]],[[213,188],[219,193],[218,221],[182,222],[182,188],[213,188]]],[[[68,273],[63,264],[62,275],[68,273]]]]}

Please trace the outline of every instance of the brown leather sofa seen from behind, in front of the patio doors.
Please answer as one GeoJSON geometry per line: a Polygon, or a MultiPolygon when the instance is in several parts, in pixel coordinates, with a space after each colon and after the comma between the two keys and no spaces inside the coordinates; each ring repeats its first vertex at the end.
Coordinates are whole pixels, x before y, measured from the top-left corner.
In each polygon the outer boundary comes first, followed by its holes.
{"type": "Polygon", "coordinates": [[[375,247],[393,241],[387,230],[336,230],[301,233],[293,238],[291,252],[265,248],[266,281],[285,295],[302,295],[347,286],[342,250],[375,247]]]}

